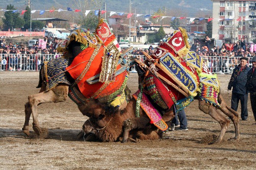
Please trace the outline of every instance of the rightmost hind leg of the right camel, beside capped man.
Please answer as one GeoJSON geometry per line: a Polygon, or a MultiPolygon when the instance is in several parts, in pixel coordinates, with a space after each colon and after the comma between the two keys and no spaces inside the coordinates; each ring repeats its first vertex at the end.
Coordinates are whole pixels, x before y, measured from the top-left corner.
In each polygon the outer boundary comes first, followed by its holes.
{"type": "Polygon", "coordinates": [[[239,115],[238,112],[231,109],[231,107],[227,106],[227,103],[224,101],[222,95],[219,94],[218,96],[218,102],[220,103],[221,107],[217,107],[217,109],[220,109],[225,115],[227,115],[233,122],[235,126],[235,138],[230,138],[229,140],[239,140],[240,139],[240,133],[239,133],[239,115]]]}

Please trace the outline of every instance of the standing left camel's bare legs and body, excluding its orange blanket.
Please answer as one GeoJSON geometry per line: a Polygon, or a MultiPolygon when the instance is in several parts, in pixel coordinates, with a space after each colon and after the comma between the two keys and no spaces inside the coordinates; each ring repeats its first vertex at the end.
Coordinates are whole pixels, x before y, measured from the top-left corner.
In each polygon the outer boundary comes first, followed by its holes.
{"type": "MultiPolygon", "coordinates": [[[[123,51],[122,55],[127,55],[129,54],[132,50],[131,48],[126,49],[123,51]]],[[[80,43],[73,41],[70,43],[68,47],[68,52],[63,55],[65,58],[74,58],[81,52],[80,48],[80,43]]],[[[123,60],[124,61],[124,60],[123,60]]],[[[100,64],[100,63],[99,63],[100,64]]],[[[126,67],[126,65],[124,65],[126,67]]],[[[39,72],[39,84],[37,88],[41,88],[39,90],[39,93],[34,94],[34,95],[29,95],[28,96],[28,102],[25,104],[25,122],[24,126],[22,128],[23,132],[29,136],[29,119],[32,114],[33,117],[33,130],[37,135],[41,135],[42,130],[39,125],[39,121],[37,119],[37,106],[42,103],[58,103],[58,102],[63,102],[66,101],[68,97],[68,90],[69,86],[66,83],[58,83],[54,88],[47,90],[46,85],[45,85],[45,72],[44,72],[44,66],[41,67],[41,70],[39,72]]],[[[72,80],[73,82],[75,80],[72,80]]],[[[92,99],[92,100],[87,100],[83,96],[83,94],[79,91],[78,86],[76,85],[74,87],[74,91],[76,91],[76,94],[80,99],[83,101],[87,101],[87,103],[79,105],[78,108],[82,112],[83,115],[86,115],[88,117],[91,117],[90,113],[88,113],[89,107],[93,103],[99,102],[98,99],[92,99]]],[[[122,107],[120,107],[122,108],[122,107]]]]}

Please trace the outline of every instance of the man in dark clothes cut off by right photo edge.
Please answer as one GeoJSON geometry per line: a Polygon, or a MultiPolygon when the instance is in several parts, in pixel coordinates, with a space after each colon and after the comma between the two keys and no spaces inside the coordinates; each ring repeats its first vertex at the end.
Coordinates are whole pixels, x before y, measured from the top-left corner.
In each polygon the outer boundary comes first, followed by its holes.
{"type": "Polygon", "coordinates": [[[256,56],[251,60],[253,67],[248,72],[246,90],[250,92],[251,109],[253,110],[253,116],[256,121],[256,56]]]}

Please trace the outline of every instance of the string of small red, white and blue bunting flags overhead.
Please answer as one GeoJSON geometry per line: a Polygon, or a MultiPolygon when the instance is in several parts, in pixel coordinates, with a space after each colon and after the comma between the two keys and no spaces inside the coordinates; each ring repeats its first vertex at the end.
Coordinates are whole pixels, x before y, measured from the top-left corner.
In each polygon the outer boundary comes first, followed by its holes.
{"type": "MultiPolygon", "coordinates": [[[[0,11],[12,11],[12,13],[16,13],[18,11],[21,11],[21,14],[20,15],[23,15],[27,10],[0,10],[0,11]]],[[[35,13],[36,11],[39,11],[39,14],[42,15],[45,13],[45,11],[49,11],[50,13],[53,13],[54,11],[58,11],[58,12],[61,12],[61,11],[74,11],[74,12],[80,12],[81,10],[79,9],[71,9],[70,7],[67,7],[67,10],[62,10],[61,8],[59,8],[58,10],[32,10],[31,13],[35,13]]],[[[85,16],[87,16],[87,14],[89,14],[90,11],[94,11],[94,14],[95,15],[99,15],[99,10],[85,10],[85,16]]],[[[105,11],[105,10],[100,10],[100,13],[101,14],[104,14],[106,12],[109,12],[110,15],[109,16],[112,16],[113,14],[118,14],[120,16],[123,16],[124,14],[127,14],[127,18],[131,18],[131,16],[133,15],[133,13],[123,13],[123,12],[117,12],[117,11],[105,11]]],[[[187,19],[189,20],[190,22],[193,22],[195,19],[198,19],[199,21],[203,21],[203,20],[206,20],[206,22],[210,22],[212,20],[217,20],[217,21],[229,21],[229,20],[236,20],[236,21],[250,21],[250,20],[254,20],[256,21],[256,19],[254,18],[242,18],[242,17],[239,17],[239,18],[203,18],[203,17],[200,17],[200,18],[192,18],[192,17],[180,17],[180,16],[161,16],[161,15],[151,15],[151,14],[136,14],[136,17],[139,17],[139,16],[144,16],[144,18],[146,17],[152,17],[152,18],[157,18],[157,17],[161,17],[160,20],[164,19],[164,18],[171,18],[171,21],[173,21],[174,19],[176,18],[179,18],[179,19],[187,19]]]]}

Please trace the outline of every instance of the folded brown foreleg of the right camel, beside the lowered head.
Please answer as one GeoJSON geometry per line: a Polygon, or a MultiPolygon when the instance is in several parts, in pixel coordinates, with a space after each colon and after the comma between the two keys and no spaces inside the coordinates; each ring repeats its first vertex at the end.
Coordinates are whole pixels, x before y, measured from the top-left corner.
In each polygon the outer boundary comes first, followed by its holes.
{"type": "Polygon", "coordinates": [[[144,128],[149,125],[150,119],[148,117],[130,118],[123,122],[123,140],[122,143],[127,142],[129,132],[135,128],[144,128]]]}

